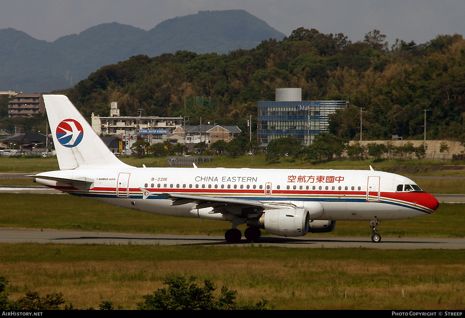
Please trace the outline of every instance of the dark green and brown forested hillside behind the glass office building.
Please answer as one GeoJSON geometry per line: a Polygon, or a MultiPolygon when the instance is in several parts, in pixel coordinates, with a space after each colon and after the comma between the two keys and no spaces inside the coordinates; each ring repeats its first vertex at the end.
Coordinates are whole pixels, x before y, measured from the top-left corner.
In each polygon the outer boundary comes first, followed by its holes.
{"type": "Polygon", "coordinates": [[[331,120],[331,131],[363,137],[465,140],[465,40],[438,35],[421,45],[398,40],[388,47],[374,30],[352,43],[344,34],[299,28],[282,41],[264,40],[229,54],[179,51],[133,56],[102,67],[69,93],[89,117],[108,113],[117,101],[122,115],[190,116],[222,124],[257,115],[257,101],[274,100],[275,88],[302,87],[304,100],[349,100],[331,120]],[[185,106],[186,101],[186,106],[185,106]]]}

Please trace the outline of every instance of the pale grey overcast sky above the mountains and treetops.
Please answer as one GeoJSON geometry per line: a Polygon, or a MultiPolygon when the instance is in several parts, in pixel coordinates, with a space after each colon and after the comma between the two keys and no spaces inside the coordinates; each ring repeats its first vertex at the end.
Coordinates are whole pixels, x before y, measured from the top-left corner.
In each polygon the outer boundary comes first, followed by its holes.
{"type": "Polygon", "coordinates": [[[0,0],[0,29],[54,41],[101,23],[149,30],[176,16],[230,9],[246,10],[286,35],[303,26],[355,42],[378,29],[390,45],[465,35],[465,0],[0,0]]]}

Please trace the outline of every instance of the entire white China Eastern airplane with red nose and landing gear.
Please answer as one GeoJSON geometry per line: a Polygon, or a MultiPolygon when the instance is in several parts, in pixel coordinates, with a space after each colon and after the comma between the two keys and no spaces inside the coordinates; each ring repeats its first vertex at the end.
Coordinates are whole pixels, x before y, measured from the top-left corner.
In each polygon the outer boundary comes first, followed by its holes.
{"type": "Polygon", "coordinates": [[[331,232],[337,220],[378,224],[430,214],[438,200],[411,179],[370,170],[150,168],[121,162],[64,95],[43,95],[59,171],[31,175],[62,192],[161,215],[232,223],[229,243],[261,231],[299,237],[331,232]]]}

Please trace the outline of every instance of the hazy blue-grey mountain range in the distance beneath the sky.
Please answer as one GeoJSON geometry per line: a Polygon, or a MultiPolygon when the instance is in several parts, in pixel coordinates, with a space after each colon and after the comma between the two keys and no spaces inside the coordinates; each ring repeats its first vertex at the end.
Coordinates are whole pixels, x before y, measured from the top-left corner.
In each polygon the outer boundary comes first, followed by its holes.
{"type": "Polygon", "coordinates": [[[199,11],[146,31],[117,22],[93,26],[54,42],[13,28],[0,30],[0,90],[49,92],[73,86],[100,67],[138,54],[187,50],[225,54],[284,34],[244,10],[199,11]]]}

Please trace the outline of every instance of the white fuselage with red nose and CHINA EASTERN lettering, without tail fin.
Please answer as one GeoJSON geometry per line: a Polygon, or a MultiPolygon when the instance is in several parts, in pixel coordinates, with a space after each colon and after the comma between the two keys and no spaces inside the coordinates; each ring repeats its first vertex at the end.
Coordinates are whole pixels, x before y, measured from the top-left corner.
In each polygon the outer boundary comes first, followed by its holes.
{"type": "Polygon", "coordinates": [[[129,209],[162,215],[223,219],[221,213],[199,216],[197,203],[173,204],[163,193],[255,200],[267,208],[312,210],[319,202],[318,220],[410,219],[432,213],[438,201],[422,191],[397,191],[415,185],[403,176],[372,170],[229,169],[229,168],[117,168],[74,169],[37,176],[93,180],[86,188],[60,181],[38,183],[129,209]],[[143,199],[143,191],[154,192],[143,199]]]}

